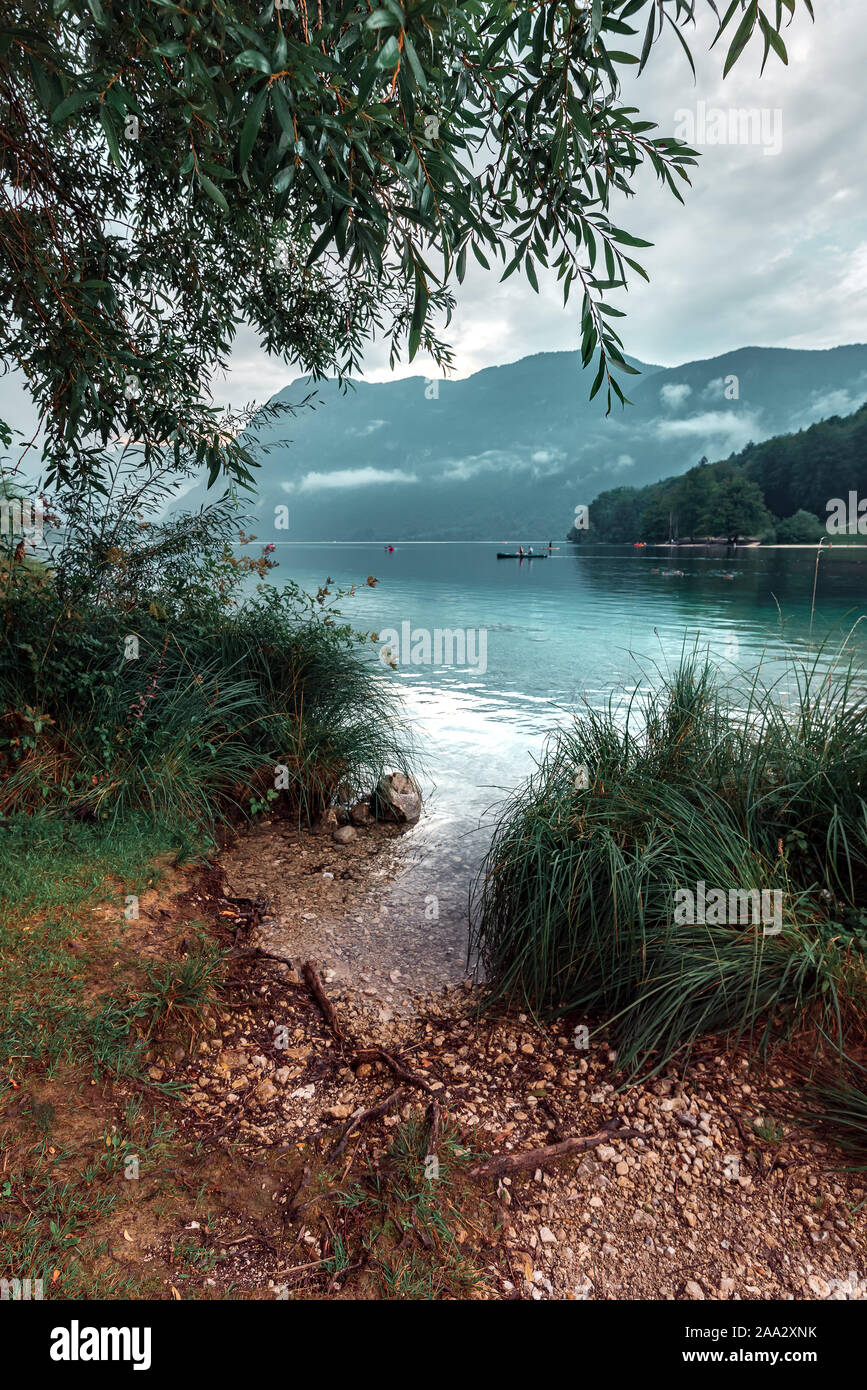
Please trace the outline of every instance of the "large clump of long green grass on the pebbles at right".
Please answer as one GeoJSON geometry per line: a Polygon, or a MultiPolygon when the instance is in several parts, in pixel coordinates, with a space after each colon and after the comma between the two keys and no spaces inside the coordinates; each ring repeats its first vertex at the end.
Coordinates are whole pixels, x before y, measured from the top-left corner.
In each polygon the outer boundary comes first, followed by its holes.
{"type": "Polygon", "coordinates": [[[604,1016],[627,1069],[702,1034],[861,1034],[867,703],[818,659],[761,674],[722,688],[685,653],[553,737],[475,885],[492,1001],[604,1016]]]}

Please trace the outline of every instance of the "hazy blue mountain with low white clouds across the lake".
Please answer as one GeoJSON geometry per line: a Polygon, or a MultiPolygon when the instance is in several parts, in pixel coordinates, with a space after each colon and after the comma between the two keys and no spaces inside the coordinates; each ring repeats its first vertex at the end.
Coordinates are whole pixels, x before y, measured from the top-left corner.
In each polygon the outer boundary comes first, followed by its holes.
{"type": "MultiPolygon", "coordinates": [[[[606,417],[578,353],[539,353],[463,381],[317,388],[318,406],[263,427],[257,535],[275,539],[563,537],[575,507],[722,459],[750,441],[854,410],[867,346],[742,348],[679,367],[638,364],[606,417]],[[288,443],[276,441],[288,439],[288,443]],[[283,513],[285,517],[285,513],[283,513]]],[[[297,403],[296,381],[276,400],[297,403]]],[[[203,500],[201,488],[183,506],[203,500]]]]}

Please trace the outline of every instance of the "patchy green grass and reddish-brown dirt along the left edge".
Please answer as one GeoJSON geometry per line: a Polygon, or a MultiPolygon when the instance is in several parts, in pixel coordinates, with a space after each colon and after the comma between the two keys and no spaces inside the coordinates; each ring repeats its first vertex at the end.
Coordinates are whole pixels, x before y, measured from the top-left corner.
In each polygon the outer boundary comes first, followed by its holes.
{"type": "Polygon", "coordinates": [[[144,817],[0,827],[0,1277],[42,1280],[46,1298],[167,1295],[158,1264],[121,1268],[113,1250],[139,1218],[157,1240],[149,1204],[188,1205],[171,1175],[195,1154],[144,1052],[217,1005],[222,951],[185,923],[185,956],[139,959],[125,903],[210,848],[196,838],[144,817]]]}

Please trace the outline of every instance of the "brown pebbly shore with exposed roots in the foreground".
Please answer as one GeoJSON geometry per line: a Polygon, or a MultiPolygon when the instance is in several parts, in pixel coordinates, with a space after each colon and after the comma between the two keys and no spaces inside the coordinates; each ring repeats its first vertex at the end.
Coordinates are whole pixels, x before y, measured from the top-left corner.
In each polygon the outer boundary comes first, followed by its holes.
{"type": "Polygon", "coordinates": [[[707,1040],[685,1076],[670,1069],[621,1090],[616,1054],[604,1040],[585,1045],[575,1020],[539,1027],[525,1015],[484,1013],[471,980],[425,980],[424,955],[408,970],[392,965],[389,923],[374,929],[370,912],[393,872],[399,828],[365,828],[340,845],[340,867],[322,869],[333,828],[257,826],[183,901],[224,931],[233,919],[242,998],[208,1019],[190,1055],[154,1054],[151,1077],[186,1084],[176,1104],[189,1143],[231,1152],[236,1165],[264,1162],[254,1172],[271,1218],[271,1250],[217,1236],[214,1289],[382,1297],[364,1262],[333,1270],[345,1243],[335,1194],[352,1173],[335,1170],[332,1156],[361,1118],[345,1156],[356,1175],[379,1172],[400,1127],[424,1125],[436,1102],[477,1158],[613,1131],[564,1161],[461,1183],[456,1240],[478,1270],[463,1297],[867,1295],[864,1176],[835,1172],[839,1154],[798,1127],[792,1056],[760,1068],[707,1040]],[[265,883],[276,908],[263,901],[265,883]],[[320,972],[338,1034],[310,992],[306,962],[320,972]],[[393,1066],[358,1062],[358,1045],[415,1079],[393,1104],[393,1066]],[[268,1165],[288,1159],[290,1175],[278,1180],[268,1165]]]}

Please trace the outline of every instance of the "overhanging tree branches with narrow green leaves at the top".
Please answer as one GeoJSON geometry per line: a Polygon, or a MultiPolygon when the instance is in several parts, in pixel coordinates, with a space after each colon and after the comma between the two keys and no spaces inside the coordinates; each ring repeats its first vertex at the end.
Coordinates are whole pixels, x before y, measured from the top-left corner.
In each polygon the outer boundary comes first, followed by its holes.
{"type": "MultiPolygon", "coordinates": [[[[810,0],[800,0],[813,13],[810,0]]],[[[618,75],[710,8],[725,71],[786,60],[798,0],[22,0],[0,36],[0,352],[40,409],[49,485],[135,438],[240,481],[207,382],[236,328],[314,375],[372,334],[440,366],[467,256],[581,296],[592,392],[629,368],[606,295],[647,243],[641,165],[696,154],[618,75]]],[[[692,61],[689,58],[689,61],[692,61]]]]}

